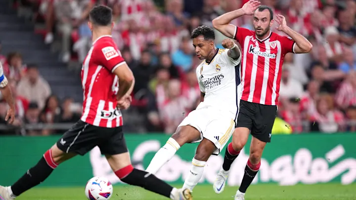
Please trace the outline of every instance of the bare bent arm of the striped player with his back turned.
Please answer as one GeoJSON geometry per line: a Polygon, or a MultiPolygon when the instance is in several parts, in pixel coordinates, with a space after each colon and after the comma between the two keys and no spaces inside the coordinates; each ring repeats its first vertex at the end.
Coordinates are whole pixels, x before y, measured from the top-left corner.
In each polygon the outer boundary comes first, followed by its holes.
{"type": "Polygon", "coordinates": [[[114,74],[119,78],[119,91],[117,93],[118,99],[125,95],[130,95],[134,89],[134,74],[125,63],[114,70],[114,74]]]}

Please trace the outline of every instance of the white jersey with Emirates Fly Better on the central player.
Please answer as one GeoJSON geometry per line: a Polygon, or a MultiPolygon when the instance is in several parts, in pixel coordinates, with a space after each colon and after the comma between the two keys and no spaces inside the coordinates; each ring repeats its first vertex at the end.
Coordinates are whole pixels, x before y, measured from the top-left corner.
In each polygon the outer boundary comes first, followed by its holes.
{"type": "Polygon", "coordinates": [[[236,121],[241,93],[241,56],[235,60],[227,55],[227,50],[219,49],[210,63],[204,61],[197,67],[199,88],[205,93],[197,109],[215,107],[236,121]]]}

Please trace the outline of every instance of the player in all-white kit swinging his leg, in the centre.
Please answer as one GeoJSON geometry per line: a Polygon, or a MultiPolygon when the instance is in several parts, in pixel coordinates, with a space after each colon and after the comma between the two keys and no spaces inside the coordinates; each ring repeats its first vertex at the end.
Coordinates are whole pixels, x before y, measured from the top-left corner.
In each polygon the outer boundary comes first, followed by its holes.
{"type": "Polygon", "coordinates": [[[204,60],[196,69],[201,102],[179,124],[146,169],[155,174],[183,144],[200,142],[183,185],[183,189],[190,191],[202,177],[206,161],[211,155],[219,155],[232,135],[238,112],[240,84],[240,50],[233,40],[223,40],[226,49],[217,48],[214,30],[208,26],[194,29],[191,39],[197,57],[204,60]]]}

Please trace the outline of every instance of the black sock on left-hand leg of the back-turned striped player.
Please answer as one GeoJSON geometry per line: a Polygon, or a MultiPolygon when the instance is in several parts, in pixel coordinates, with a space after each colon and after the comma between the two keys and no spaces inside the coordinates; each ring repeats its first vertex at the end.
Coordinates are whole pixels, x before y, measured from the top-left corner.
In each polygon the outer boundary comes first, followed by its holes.
{"type": "Polygon", "coordinates": [[[11,186],[13,195],[19,196],[23,192],[43,182],[53,171],[44,157],[11,186]]]}

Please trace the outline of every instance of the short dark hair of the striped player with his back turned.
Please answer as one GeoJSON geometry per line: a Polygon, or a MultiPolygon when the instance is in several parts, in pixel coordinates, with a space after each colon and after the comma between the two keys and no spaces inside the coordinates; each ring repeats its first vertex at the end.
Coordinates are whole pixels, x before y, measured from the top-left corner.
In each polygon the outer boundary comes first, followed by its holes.
{"type": "Polygon", "coordinates": [[[98,26],[108,26],[112,21],[112,9],[106,5],[94,6],[89,12],[90,22],[98,26]]]}

